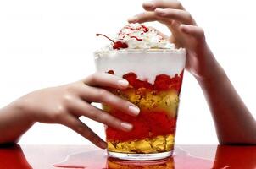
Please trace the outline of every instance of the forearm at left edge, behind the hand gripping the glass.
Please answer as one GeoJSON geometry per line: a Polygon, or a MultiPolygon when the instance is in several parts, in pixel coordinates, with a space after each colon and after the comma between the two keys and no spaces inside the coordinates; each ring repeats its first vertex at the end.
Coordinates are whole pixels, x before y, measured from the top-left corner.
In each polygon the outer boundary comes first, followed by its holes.
{"type": "Polygon", "coordinates": [[[10,104],[0,109],[0,144],[14,144],[33,122],[21,106],[10,104]]]}

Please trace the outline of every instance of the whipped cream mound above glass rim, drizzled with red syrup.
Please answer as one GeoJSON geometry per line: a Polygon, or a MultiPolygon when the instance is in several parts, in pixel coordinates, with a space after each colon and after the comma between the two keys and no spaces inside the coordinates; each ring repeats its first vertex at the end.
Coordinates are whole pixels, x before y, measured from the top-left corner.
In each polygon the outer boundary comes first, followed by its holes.
{"type": "MultiPolygon", "coordinates": [[[[105,36],[105,35],[104,35],[105,36]]],[[[123,27],[116,35],[114,40],[107,37],[112,43],[95,52],[95,56],[102,56],[107,53],[122,51],[172,51],[184,52],[183,48],[175,48],[175,44],[170,43],[163,36],[158,34],[157,30],[141,24],[129,24],[123,27]],[[126,47],[116,47],[116,43],[125,44],[126,47]]],[[[119,44],[119,45],[120,45],[119,44]]]]}

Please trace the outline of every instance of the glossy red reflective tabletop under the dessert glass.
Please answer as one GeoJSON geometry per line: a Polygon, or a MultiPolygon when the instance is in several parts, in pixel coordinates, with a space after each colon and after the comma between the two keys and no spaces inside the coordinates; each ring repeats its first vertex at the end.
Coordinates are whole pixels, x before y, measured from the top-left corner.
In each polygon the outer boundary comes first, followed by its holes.
{"type": "Polygon", "coordinates": [[[90,145],[2,145],[0,169],[256,169],[256,146],[176,145],[161,161],[116,161],[90,145]]]}

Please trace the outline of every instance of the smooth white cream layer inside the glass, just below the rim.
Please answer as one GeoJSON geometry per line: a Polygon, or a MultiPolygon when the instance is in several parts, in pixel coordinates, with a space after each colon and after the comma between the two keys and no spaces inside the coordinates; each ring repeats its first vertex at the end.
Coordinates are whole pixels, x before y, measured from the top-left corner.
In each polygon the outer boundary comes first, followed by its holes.
{"type": "Polygon", "coordinates": [[[185,68],[186,52],[117,52],[95,57],[97,71],[107,73],[113,70],[116,76],[135,73],[137,79],[153,85],[159,74],[174,77],[185,68]]]}

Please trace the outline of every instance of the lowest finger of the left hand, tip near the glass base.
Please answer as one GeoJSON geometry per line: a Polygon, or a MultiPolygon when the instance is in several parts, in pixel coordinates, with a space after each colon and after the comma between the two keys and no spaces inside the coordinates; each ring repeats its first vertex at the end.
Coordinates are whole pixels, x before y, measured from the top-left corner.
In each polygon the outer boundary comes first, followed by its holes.
{"type": "Polygon", "coordinates": [[[67,114],[63,117],[62,124],[71,128],[76,133],[81,134],[84,138],[90,140],[93,144],[102,149],[107,148],[107,144],[97,134],[95,134],[91,128],[88,128],[86,124],[82,123],[79,119],[67,114]]]}

